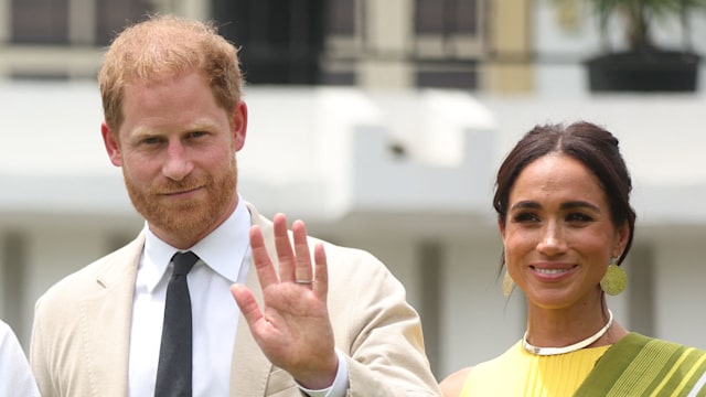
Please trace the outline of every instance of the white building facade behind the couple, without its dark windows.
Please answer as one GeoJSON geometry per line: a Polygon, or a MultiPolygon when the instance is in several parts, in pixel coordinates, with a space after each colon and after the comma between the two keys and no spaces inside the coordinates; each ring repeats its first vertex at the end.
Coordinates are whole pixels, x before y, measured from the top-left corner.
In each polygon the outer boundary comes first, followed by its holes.
{"type": "MultiPolygon", "coordinates": [[[[86,10],[81,4],[106,3],[64,1],[77,15],[86,10]]],[[[4,21],[11,19],[10,3],[0,0],[4,21]]],[[[150,3],[197,18],[210,14],[207,2],[150,3]]],[[[479,3],[486,11],[512,9],[506,1],[479,3]]],[[[586,39],[590,30],[567,39],[553,29],[544,1],[518,3],[531,22],[517,33],[520,39],[528,34],[520,41],[524,46],[510,30],[511,37],[494,35],[495,46],[550,54],[592,45],[586,39]]],[[[356,12],[387,8],[411,15],[415,3],[355,4],[356,12]]],[[[516,14],[510,19],[525,21],[516,14]]],[[[386,24],[379,14],[366,21],[354,26],[355,40],[379,36],[379,45],[408,47],[409,21],[386,24]],[[397,33],[378,32],[383,28],[397,33]]],[[[0,26],[7,43],[10,24],[0,26]]],[[[97,34],[78,22],[72,26],[72,43],[97,34]]],[[[334,46],[355,46],[350,39],[338,37],[334,46]]],[[[437,39],[416,36],[414,43],[431,54],[437,39]]],[[[460,43],[461,57],[481,51],[460,43]]],[[[328,60],[329,71],[350,72],[339,58],[328,60]]],[[[638,212],[634,246],[624,264],[628,289],[609,303],[631,330],[706,348],[706,160],[700,150],[706,97],[700,92],[591,95],[578,55],[571,60],[482,65],[479,76],[484,77],[472,94],[419,88],[414,76],[428,64],[375,57],[355,63],[356,86],[246,87],[250,117],[238,157],[239,191],[266,215],[300,217],[313,235],[379,257],[420,312],[429,358],[441,378],[500,354],[524,332],[523,298],[520,292],[504,298],[498,277],[501,242],[491,197],[504,154],[535,124],[586,119],[603,125],[621,141],[638,212]]],[[[99,95],[87,78],[99,62],[100,50],[92,46],[0,46],[0,74],[8,77],[0,82],[0,316],[24,346],[35,299],[143,226],[120,170],[103,148],[99,95]],[[69,78],[9,78],[18,71],[44,73],[49,64],[65,68],[62,75],[69,78]]],[[[462,63],[456,65],[467,72],[462,63]]]]}

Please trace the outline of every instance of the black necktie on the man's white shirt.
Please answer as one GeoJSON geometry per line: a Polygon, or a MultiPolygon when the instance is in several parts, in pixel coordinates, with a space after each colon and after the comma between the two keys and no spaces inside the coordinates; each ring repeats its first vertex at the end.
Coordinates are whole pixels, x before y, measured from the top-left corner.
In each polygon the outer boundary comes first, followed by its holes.
{"type": "Polygon", "coordinates": [[[162,344],[159,348],[156,397],[191,397],[191,298],[186,275],[199,257],[176,253],[174,272],[167,287],[162,344]]]}

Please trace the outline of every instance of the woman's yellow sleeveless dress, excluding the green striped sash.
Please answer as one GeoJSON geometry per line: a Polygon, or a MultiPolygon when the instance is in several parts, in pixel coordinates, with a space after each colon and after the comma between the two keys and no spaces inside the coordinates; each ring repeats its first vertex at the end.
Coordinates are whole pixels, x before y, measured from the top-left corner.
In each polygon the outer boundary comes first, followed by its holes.
{"type": "Polygon", "coordinates": [[[609,347],[538,356],[527,353],[521,341],[502,355],[473,366],[460,396],[573,396],[609,347]]]}

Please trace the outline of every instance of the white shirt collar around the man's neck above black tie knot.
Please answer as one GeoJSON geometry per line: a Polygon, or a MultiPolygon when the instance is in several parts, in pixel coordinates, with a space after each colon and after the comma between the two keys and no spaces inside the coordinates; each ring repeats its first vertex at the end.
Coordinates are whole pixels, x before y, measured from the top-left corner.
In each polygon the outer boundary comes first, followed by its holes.
{"type": "MultiPolygon", "coordinates": [[[[172,256],[180,249],[157,237],[147,223],[145,228],[145,251],[140,270],[145,272],[148,290],[151,292],[164,277],[172,256]]],[[[249,228],[250,214],[245,201],[238,196],[233,214],[189,250],[194,251],[213,271],[236,282],[243,259],[249,250],[249,228]]]]}

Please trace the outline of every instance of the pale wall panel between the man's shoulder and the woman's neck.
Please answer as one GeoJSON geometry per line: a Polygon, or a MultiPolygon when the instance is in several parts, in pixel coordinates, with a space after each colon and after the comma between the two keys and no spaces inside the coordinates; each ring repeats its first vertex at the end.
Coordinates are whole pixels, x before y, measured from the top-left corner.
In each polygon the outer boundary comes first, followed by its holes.
{"type": "Polygon", "coordinates": [[[441,378],[502,354],[525,330],[522,291],[516,289],[506,298],[501,290],[498,272],[502,244],[493,233],[488,228],[478,236],[446,242],[441,378]]]}

